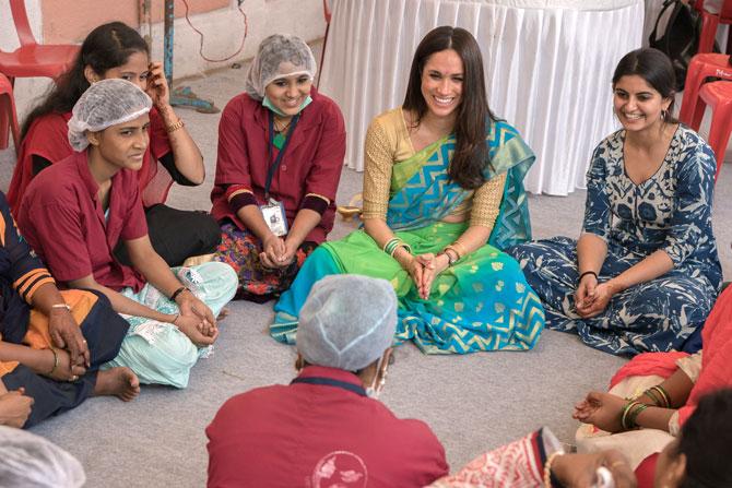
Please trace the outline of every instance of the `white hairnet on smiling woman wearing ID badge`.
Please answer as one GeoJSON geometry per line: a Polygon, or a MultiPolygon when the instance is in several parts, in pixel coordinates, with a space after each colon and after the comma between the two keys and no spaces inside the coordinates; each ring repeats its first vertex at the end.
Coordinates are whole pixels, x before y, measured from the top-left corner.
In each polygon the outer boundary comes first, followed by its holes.
{"type": "Polygon", "coordinates": [[[310,47],[299,37],[274,34],[262,40],[249,66],[245,90],[255,99],[264,98],[264,88],[278,78],[307,74],[315,79],[318,68],[310,47]]]}

